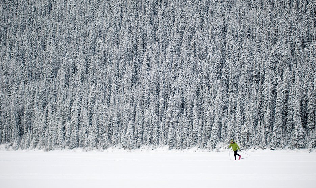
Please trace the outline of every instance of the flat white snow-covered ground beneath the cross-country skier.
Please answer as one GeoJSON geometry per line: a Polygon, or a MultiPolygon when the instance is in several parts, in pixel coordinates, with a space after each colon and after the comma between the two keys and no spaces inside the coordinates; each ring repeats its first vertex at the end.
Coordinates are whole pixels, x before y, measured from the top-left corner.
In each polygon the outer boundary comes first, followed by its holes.
{"type": "Polygon", "coordinates": [[[247,153],[0,151],[0,187],[316,187],[315,152],[247,153]]]}

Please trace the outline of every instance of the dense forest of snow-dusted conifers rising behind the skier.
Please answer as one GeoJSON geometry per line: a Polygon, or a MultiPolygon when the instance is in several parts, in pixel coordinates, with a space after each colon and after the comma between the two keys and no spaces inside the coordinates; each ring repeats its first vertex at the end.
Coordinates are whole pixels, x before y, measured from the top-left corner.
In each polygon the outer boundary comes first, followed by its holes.
{"type": "Polygon", "coordinates": [[[3,0],[0,143],[315,148],[315,0],[3,0]]]}

